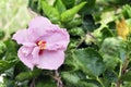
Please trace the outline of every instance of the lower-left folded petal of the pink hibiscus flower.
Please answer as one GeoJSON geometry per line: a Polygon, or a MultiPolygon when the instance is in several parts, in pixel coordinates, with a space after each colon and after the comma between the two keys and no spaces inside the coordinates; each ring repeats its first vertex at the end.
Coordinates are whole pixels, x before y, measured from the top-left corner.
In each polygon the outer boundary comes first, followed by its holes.
{"type": "Polygon", "coordinates": [[[17,55],[20,58],[20,60],[27,66],[29,67],[31,70],[33,70],[33,67],[35,66],[33,63],[32,63],[32,51],[33,51],[33,48],[31,47],[25,47],[25,46],[22,46],[20,49],[19,49],[19,52],[17,52],[17,55]]]}

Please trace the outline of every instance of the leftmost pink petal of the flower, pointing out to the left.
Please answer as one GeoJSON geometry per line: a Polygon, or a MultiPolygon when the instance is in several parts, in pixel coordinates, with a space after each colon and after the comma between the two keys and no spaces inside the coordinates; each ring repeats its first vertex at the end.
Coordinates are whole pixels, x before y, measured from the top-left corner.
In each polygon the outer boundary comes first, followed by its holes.
{"type": "Polygon", "coordinates": [[[16,42],[17,44],[25,44],[25,42],[31,42],[31,41],[33,41],[32,39],[31,39],[31,34],[28,33],[28,29],[20,29],[20,30],[17,30],[14,35],[13,35],[13,37],[12,37],[12,39],[14,39],[14,40],[16,40],[16,42]]]}

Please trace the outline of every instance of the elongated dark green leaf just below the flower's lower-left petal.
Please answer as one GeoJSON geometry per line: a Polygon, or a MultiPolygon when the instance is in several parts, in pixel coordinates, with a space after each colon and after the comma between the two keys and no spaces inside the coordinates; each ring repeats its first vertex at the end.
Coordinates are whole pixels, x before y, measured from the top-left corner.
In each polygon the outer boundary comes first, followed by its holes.
{"type": "Polygon", "coordinates": [[[23,82],[23,80],[26,80],[26,79],[32,79],[36,76],[38,76],[40,74],[41,70],[34,70],[34,71],[29,71],[29,72],[22,72],[20,73],[19,75],[16,75],[15,79],[17,82],[23,82]]]}

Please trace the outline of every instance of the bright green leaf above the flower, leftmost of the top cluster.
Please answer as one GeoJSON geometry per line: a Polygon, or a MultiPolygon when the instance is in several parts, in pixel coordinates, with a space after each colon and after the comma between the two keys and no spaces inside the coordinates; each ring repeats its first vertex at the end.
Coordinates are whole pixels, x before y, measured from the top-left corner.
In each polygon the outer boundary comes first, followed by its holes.
{"type": "Polygon", "coordinates": [[[52,23],[58,23],[60,20],[59,12],[56,8],[49,5],[46,1],[41,0],[41,9],[44,14],[50,18],[52,23]]]}

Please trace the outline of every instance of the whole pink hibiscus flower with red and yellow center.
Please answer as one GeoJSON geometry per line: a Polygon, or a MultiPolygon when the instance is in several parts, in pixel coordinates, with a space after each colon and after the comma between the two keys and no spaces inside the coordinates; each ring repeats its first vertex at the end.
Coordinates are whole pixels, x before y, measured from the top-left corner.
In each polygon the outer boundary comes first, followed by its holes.
{"type": "Polygon", "coordinates": [[[17,55],[31,70],[34,66],[57,70],[64,61],[64,51],[70,40],[66,29],[43,16],[32,20],[27,29],[17,30],[13,39],[23,45],[17,55]]]}

